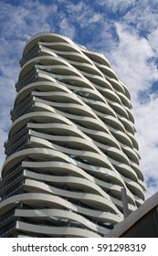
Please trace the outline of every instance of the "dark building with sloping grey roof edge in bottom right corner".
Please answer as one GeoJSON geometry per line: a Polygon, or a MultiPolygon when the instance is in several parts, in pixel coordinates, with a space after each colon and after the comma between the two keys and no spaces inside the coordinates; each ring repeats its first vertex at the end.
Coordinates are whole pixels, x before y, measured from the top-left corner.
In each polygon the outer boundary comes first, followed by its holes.
{"type": "Polygon", "coordinates": [[[158,192],[119,222],[105,237],[158,238],[158,192]]]}

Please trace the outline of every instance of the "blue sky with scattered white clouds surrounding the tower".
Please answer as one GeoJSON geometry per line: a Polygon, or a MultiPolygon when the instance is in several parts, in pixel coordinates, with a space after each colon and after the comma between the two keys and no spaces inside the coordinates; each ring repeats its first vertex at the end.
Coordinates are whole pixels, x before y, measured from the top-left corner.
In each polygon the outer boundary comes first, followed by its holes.
{"type": "Polygon", "coordinates": [[[19,59],[26,41],[52,31],[103,53],[132,95],[147,186],[158,190],[158,0],[0,0],[0,169],[19,59]]]}

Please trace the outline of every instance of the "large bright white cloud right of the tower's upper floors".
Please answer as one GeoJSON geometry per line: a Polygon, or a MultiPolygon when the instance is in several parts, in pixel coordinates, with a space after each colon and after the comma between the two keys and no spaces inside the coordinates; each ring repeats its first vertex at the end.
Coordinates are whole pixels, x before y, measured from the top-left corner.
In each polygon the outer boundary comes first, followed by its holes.
{"type": "MultiPolygon", "coordinates": [[[[119,44],[109,54],[112,66],[131,91],[132,101],[136,101],[138,92],[151,87],[158,79],[158,72],[153,61],[153,49],[146,38],[139,37],[136,31],[116,23],[119,44]]],[[[133,102],[134,103],[134,102],[133,102]]]]}

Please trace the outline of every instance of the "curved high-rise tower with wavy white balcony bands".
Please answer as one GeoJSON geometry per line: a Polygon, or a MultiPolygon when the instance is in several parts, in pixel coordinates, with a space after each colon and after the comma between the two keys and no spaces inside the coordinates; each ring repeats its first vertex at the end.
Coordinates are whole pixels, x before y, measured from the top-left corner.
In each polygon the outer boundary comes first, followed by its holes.
{"type": "Polygon", "coordinates": [[[31,38],[5,142],[1,237],[103,237],[142,205],[130,93],[102,54],[31,38]]]}

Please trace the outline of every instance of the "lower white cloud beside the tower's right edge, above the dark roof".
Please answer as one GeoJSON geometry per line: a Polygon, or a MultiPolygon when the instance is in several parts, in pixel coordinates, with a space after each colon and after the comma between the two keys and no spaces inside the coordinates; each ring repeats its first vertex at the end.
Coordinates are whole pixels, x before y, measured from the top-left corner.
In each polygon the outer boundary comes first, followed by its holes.
{"type": "MultiPolygon", "coordinates": [[[[142,155],[141,166],[146,183],[151,177],[157,182],[158,188],[158,98],[151,97],[146,104],[135,105],[134,116],[137,126],[137,138],[142,155]]],[[[153,184],[148,184],[152,187],[153,184]]]]}

